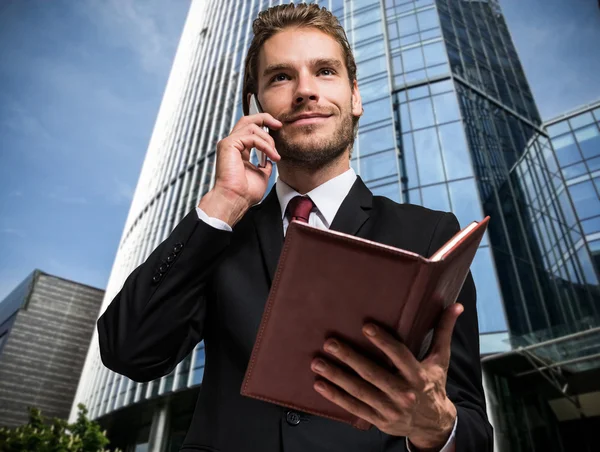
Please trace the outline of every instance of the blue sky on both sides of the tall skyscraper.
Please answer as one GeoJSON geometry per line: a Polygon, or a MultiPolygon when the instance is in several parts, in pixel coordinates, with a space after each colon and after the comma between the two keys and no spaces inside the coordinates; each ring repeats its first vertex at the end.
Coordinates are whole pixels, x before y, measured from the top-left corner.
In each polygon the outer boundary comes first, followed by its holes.
{"type": "MultiPolygon", "coordinates": [[[[600,98],[595,0],[501,0],[544,119],[600,98]]],[[[4,0],[0,300],[105,288],[189,0],[4,0]]]]}

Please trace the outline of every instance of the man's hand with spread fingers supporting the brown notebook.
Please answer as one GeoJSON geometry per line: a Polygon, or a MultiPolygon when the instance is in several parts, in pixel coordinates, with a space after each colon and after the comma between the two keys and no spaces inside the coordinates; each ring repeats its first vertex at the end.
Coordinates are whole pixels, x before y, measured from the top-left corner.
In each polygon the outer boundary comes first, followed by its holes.
{"type": "Polygon", "coordinates": [[[446,378],[452,332],[463,310],[456,303],[444,311],[430,352],[421,362],[383,328],[366,324],[363,334],[389,357],[397,373],[385,370],[339,340],[328,339],[324,350],[350,366],[360,378],[317,358],[311,368],[329,382],[319,380],[315,390],[382,432],[406,436],[420,450],[441,449],[456,419],[456,407],[446,395],[446,378]]]}

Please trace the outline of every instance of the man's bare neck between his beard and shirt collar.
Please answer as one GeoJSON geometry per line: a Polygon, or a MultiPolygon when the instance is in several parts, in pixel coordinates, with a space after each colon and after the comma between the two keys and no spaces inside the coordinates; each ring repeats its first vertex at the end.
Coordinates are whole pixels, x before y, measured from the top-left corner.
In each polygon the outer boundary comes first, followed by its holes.
{"type": "Polygon", "coordinates": [[[280,160],[277,163],[279,177],[301,195],[314,190],[319,185],[345,173],[350,169],[348,152],[344,152],[329,165],[318,169],[300,167],[280,160]]]}

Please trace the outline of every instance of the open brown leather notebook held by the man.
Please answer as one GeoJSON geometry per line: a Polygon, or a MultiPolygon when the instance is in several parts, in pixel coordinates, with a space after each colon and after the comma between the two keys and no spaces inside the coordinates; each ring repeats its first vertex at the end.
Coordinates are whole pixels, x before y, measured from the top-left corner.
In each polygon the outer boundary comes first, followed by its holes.
{"type": "Polygon", "coordinates": [[[458,297],[488,221],[471,223],[429,259],[293,221],[241,394],[368,430],[367,421],[313,389],[310,363],[319,355],[335,361],[322,350],[335,336],[392,370],[364,337],[366,321],[387,328],[422,359],[442,311],[458,297]]]}

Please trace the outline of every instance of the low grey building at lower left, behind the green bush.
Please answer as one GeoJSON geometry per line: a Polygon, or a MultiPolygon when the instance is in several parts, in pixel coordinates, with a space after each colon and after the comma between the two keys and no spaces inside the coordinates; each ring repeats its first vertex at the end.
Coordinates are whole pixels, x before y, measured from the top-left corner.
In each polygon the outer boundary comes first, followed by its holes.
{"type": "Polygon", "coordinates": [[[67,419],[104,291],[32,272],[0,301],[0,426],[67,419]]]}

